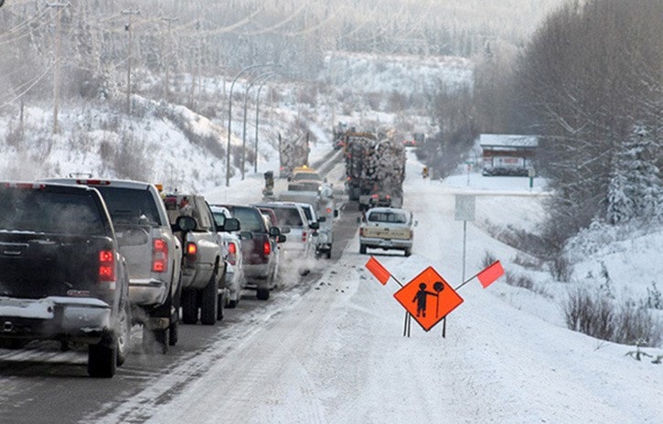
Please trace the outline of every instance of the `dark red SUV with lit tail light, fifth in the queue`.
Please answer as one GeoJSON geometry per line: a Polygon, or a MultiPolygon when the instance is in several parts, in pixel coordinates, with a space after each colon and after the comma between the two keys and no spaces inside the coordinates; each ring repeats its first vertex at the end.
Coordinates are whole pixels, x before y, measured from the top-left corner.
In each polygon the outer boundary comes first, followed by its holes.
{"type": "Polygon", "coordinates": [[[246,287],[255,289],[256,298],[266,301],[276,287],[278,258],[273,251],[273,238],[281,235],[278,227],[267,228],[257,207],[215,205],[226,207],[240,221],[241,254],[244,261],[246,287]]]}

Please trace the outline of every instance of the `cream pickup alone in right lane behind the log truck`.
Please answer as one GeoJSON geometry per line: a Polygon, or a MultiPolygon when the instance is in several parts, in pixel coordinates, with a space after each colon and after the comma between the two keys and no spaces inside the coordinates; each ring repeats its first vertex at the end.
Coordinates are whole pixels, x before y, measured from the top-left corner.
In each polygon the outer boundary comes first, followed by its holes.
{"type": "Polygon", "coordinates": [[[359,227],[359,253],[366,249],[403,250],[405,256],[412,254],[412,212],[395,207],[373,207],[361,219],[359,227]]]}

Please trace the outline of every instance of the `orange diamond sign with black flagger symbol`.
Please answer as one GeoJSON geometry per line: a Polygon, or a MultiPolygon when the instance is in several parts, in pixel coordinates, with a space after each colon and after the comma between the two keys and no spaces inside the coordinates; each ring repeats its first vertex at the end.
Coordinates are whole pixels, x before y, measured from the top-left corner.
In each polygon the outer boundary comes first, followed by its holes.
{"type": "Polygon", "coordinates": [[[393,297],[401,302],[425,331],[429,331],[463,303],[463,298],[433,267],[423,270],[395,292],[393,297]]]}

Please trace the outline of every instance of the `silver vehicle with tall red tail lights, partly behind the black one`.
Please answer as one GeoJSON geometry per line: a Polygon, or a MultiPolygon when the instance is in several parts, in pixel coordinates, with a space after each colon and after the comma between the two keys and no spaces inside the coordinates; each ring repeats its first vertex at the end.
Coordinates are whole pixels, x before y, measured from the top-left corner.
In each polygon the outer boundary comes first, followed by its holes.
{"type": "Polygon", "coordinates": [[[88,185],[103,196],[120,253],[129,267],[129,299],[134,320],[143,324],[145,347],[177,343],[182,246],[173,234],[156,185],[139,181],[59,178],[52,183],[88,185]],[[151,335],[149,335],[151,334],[151,335]]]}

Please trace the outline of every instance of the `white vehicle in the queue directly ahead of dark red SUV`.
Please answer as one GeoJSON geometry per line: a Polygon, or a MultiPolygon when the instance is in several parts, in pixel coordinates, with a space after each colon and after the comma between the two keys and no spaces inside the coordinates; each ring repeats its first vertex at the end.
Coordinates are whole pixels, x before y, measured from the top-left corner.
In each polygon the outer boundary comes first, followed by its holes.
{"type": "Polygon", "coordinates": [[[282,266],[289,267],[299,262],[297,270],[300,274],[310,271],[306,260],[315,253],[314,231],[319,224],[309,223],[304,209],[294,202],[269,202],[254,206],[273,209],[279,228],[287,234],[287,239],[281,244],[282,266]]]}

